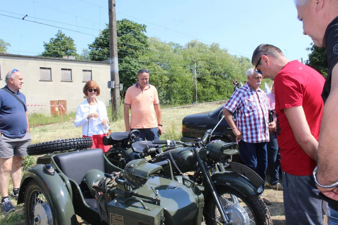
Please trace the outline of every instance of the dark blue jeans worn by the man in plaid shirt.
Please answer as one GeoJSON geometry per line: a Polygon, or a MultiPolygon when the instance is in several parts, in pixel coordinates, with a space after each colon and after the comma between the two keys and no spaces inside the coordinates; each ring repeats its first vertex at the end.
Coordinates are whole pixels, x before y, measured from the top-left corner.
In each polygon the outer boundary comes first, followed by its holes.
{"type": "Polygon", "coordinates": [[[238,142],[239,153],[244,165],[255,171],[263,180],[261,188],[264,191],[266,168],[267,168],[267,152],[266,142],[249,143],[241,140],[238,142]]]}

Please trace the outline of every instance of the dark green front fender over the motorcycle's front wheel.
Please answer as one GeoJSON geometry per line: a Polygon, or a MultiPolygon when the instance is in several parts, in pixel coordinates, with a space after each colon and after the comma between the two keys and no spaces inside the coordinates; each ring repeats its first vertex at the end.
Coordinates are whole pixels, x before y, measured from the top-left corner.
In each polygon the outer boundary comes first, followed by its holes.
{"type": "Polygon", "coordinates": [[[244,197],[263,192],[261,188],[257,188],[254,184],[252,184],[248,178],[232,171],[214,173],[211,178],[214,181],[215,186],[226,186],[232,188],[244,197]]]}

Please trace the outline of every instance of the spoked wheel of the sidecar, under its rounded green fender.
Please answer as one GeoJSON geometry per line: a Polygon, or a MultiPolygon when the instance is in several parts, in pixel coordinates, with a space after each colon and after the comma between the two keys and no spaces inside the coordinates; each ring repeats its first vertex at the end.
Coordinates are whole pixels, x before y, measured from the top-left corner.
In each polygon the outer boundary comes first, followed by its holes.
{"type": "Polygon", "coordinates": [[[32,180],[25,191],[25,217],[29,225],[55,225],[50,200],[47,199],[36,180],[32,180]]]}

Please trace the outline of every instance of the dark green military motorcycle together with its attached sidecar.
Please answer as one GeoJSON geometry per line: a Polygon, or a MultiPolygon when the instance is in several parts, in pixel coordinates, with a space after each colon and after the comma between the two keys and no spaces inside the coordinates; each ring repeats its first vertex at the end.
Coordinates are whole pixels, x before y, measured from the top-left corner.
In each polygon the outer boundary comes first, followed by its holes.
{"type": "Polygon", "coordinates": [[[165,157],[132,160],[121,170],[102,149],[47,154],[25,172],[18,204],[24,203],[27,225],[75,225],[77,215],[95,225],[271,224],[250,180],[218,172],[220,164],[210,171],[210,162],[229,158],[233,146],[202,142],[170,141],[163,153],[185,151],[197,168],[193,177],[174,172],[182,167],[165,157]]]}

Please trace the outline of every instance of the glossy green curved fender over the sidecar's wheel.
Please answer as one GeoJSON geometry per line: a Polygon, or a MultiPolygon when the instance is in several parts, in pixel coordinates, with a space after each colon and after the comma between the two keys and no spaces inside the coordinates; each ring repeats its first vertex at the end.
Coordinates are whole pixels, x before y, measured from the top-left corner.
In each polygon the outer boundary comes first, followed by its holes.
{"type": "Polygon", "coordinates": [[[34,179],[47,195],[46,198],[50,199],[49,204],[56,224],[76,224],[72,198],[63,179],[56,172],[54,175],[48,174],[43,167],[43,164],[33,165],[25,172],[21,180],[18,204],[24,203],[24,192],[28,183],[34,179]]]}

